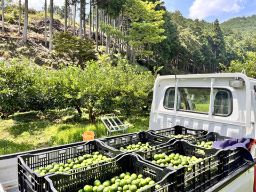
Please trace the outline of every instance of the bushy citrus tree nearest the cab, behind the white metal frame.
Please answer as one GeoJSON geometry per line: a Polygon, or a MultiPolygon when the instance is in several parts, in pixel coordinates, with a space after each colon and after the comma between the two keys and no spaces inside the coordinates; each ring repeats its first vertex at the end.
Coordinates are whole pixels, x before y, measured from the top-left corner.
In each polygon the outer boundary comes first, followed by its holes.
{"type": "Polygon", "coordinates": [[[151,104],[156,74],[138,73],[126,59],[119,58],[114,66],[103,57],[101,62],[87,63],[85,73],[89,96],[85,107],[92,123],[101,114],[115,110],[129,114],[151,104]]]}

